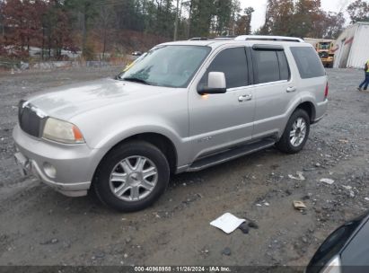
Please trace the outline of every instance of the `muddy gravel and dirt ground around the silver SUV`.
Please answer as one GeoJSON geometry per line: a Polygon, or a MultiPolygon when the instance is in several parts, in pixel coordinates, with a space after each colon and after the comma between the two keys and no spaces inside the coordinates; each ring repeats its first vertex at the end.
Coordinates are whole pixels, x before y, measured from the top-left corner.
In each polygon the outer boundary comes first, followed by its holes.
{"type": "Polygon", "coordinates": [[[17,102],[118,71],[0,75],[0,265],[305,266],[330,232],[369,207],[369,92],[356,92],[364,74],[350,69],[328,70],[328,115],[312,127],[301,154],[268,149],[172,177],[163,198],[145,211],[119,214],[93,196],[66,198],[23,179],[11,136],[17,102]],[[289,177],[297,172],[305,180],[289,177]],[[294,200],[303,200],[305,213],[294,210],[294,200]],[[225,212],[259,228],[227,235],[209,225],[225,212]]]}

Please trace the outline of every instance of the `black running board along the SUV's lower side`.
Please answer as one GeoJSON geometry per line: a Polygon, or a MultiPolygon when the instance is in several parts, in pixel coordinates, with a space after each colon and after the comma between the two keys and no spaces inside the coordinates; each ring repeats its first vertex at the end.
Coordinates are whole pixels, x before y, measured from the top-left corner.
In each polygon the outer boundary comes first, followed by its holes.
{"type": "Polygon", "coordinates": [[[276,140],[274,138],[265,138],[248,145],[236,146],[232,149],[226,150],[219,154],[213,154],[204,158],[197,160],[189,166],[187,172],[198,172],[202,171],[208,167],[215,166],[220,163],[225,163],[227,161],[242,157],[246,154],[252,154],[259,150],[266,149],[275,145],[276,140]]]}

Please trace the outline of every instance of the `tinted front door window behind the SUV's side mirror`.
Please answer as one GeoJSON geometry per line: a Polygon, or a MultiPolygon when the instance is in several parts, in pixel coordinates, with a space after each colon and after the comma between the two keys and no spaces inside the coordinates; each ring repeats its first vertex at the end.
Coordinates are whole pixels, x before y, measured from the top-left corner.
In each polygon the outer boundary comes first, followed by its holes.
{"type": "Polygon", "coordinates": [[[199,86],[207,85],[209,72],[224,72],[227,88],[248,85],[245,48],[227,48],[220,52],[206,70],[199,86]]]}

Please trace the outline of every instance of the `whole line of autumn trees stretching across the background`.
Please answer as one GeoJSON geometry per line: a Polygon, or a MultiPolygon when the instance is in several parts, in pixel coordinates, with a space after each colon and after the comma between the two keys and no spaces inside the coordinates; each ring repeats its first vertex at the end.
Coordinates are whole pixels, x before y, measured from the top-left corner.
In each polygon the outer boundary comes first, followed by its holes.
{"type": "MultiPolygon", "coordinates": [[[[167,40],[250,34],[254,9],[239,0],[0,0],[0,56],[62,57],[62,50],[125,53],[167,40]]],[[[367,21],[367,0],[347,8],[367,21]]],[[[256,34],[336,38],[343,13],[326,13],[320,0],[268,0],[256,34]]]]}

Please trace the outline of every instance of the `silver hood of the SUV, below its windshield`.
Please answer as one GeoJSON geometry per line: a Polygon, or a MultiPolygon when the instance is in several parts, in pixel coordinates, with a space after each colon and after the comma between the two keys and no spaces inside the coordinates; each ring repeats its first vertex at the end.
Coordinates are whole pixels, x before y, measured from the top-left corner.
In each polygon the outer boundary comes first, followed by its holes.
{"type": "Polygon", "coordinates": [[[112,103],[129,102],[143,97],[147,99],[164,92],[165,89],[105,78],[52,88],[48,92],[34,94],[26,100],[49,117],[71,119],[80,113],[112,103]]]}

